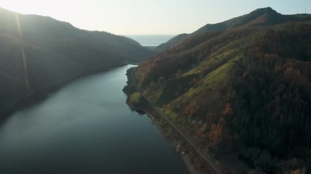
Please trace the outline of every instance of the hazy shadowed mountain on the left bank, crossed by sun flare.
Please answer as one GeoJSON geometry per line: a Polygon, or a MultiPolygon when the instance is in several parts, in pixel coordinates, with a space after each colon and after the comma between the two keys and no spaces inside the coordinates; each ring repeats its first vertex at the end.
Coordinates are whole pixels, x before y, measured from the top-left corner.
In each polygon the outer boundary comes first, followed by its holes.
{"type": "Polygon", "coordinates": [[[80,30],[51,17],[1,8],[0,16],[0,110],[48,86],[152,54],[132,39],[80,30]]]}

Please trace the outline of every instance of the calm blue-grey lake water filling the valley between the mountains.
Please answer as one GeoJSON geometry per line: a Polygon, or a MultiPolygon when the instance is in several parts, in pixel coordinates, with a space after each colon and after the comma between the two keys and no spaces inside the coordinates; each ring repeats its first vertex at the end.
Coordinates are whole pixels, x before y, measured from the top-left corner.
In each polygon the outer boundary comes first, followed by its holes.
{"type": "Polygon", "coordinates": [[[189,173],[126,105],[130,67],[80,78],[0,123],[0,173],[189,173]]]}

